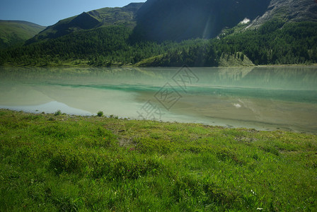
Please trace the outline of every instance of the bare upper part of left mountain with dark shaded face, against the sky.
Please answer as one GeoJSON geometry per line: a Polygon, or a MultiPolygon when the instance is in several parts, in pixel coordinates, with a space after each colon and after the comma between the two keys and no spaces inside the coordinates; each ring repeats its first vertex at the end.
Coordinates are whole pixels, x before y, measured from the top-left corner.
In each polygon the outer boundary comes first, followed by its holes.
{"type": "Polygon", "coordinates": [[[107,25],[124,25],[127,28],[134,28],[136,25],[136,13],[142,5],[143,3],[131,3],[122,8],[100,8],[59,20],[58,23],[47,27],[41,33],[28,40],[27,44],[107,25]]]}

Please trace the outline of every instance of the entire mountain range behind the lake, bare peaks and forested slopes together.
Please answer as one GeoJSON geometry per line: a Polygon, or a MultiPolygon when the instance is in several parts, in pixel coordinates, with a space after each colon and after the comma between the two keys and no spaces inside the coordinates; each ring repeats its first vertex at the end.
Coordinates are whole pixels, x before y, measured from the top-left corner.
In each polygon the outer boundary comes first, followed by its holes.
{"type": "Polygon", "coordinates": [[[149,0],[102,8],[60,20],[23,47],[1,51],[0,64],[314,64],[316,8],[313,0],[149,0]]]}

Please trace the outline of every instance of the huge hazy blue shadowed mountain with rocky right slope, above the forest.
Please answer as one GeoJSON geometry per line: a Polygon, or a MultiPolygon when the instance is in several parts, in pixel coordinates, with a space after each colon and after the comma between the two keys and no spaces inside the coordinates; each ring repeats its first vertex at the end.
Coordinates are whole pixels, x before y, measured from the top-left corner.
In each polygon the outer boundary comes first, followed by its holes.
{"type": "Polygon", "coordinates": [[[208,39],[245,18],[253,27],[275,18],[316,21],[317,4],[313,0],[148,0],[137,13],[134,34],[159,42],[208,39]]]}

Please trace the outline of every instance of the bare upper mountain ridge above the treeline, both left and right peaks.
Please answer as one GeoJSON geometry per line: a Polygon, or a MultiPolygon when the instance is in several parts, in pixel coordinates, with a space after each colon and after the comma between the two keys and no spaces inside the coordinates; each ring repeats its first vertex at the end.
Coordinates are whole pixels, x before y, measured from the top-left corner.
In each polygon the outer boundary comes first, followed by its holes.
{"type": "Polygon", "coordinates": [[[148,0],[122,8],[100,8],[59,20],[28,40],[26,45],[105,25],[134,29],[132,40],[209,39],[226,28],[233,28],[244,18],[250,20],[246,29],[258,28],[275,18],[285,22],[317,21],[317,4],[311,0],[148,0]]]}

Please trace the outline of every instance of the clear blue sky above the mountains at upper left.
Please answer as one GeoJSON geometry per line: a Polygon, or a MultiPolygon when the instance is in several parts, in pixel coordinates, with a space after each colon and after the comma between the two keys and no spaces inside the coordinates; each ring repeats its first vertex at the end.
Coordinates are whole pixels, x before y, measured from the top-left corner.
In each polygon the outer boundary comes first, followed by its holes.
{"type": "Polygon", "coordinates": [[[82,12],[144,1],[146,0],[0,0],[0,20],[26,20],[48,26],[82,12]]]}

